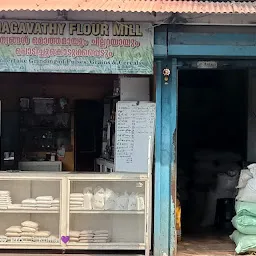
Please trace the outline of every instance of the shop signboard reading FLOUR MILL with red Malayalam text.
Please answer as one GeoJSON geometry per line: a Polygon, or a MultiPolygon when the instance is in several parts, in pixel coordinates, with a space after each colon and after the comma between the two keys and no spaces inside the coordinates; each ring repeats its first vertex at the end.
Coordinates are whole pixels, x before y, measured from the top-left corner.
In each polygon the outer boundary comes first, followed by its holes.
{"type": "Polygon", "coordinates": [[[0,72],[152,74],[149,23],[0,20],[0,72]]]}

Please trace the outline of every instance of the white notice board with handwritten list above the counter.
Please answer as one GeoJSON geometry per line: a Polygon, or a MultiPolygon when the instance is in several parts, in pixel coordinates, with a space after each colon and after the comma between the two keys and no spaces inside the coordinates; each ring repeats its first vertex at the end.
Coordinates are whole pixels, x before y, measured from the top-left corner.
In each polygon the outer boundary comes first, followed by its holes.
{"type": "Polygon", "coordinates": [[[119,101],[116,106],[115,171],[151,171],[156,104],[119,101]]]}

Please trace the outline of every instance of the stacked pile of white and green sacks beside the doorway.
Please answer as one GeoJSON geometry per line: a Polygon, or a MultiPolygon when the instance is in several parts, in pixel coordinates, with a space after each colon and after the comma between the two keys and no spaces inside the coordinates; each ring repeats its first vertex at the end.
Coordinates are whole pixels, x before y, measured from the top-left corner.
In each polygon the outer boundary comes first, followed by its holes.
{"type": "Polygon", "coordinates": [[[241,171],[237,188],[236,216],[232,219],[236,230],[230,238],[240,254],[256,249],[256,164],[241,171]]]}

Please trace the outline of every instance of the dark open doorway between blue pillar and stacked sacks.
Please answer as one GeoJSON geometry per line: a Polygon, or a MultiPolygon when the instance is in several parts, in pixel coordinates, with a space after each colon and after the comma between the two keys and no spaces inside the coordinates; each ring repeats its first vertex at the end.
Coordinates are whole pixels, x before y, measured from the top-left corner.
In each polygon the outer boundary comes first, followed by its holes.
{"type": "Polygon", "coordinates": [[[179,71],[179,256],[234,254],[227,216],[234,211],[235,186],[246,161],[247,74],[247,70],[179,71]]]}

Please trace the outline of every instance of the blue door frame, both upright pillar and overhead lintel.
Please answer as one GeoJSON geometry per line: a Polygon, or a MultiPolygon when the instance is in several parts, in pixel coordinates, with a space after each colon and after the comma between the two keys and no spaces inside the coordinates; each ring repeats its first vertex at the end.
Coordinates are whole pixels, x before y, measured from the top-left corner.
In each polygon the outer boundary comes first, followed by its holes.
{"type": "Polygon", "coordinates": [[[155,32],[156,146],[154,256],[176,253],[177,58],[256,59],[256,34],[155,32]],[[171,70],[166,84],[163,69],[171,70]]]}

